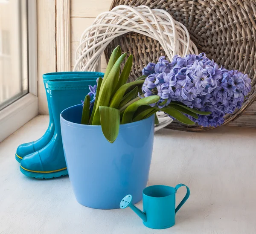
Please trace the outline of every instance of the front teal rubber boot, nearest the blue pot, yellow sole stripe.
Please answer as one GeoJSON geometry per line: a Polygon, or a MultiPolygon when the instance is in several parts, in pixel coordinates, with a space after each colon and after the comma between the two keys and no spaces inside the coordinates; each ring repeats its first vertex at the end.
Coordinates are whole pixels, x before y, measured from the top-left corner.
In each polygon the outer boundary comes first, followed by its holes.
{"type": "Polygon", "coordinates": [[[73,105],[81,103],[90,92],[88,85],[93,81],[84,78],[55,79],[47,82],[49,101],[55,125],[51,141],[34,153],[25,156],[20,163],[20,171],[29,177],[51,179],[67,175],[67,166],[61,138],[60,114],[73,105]]]}

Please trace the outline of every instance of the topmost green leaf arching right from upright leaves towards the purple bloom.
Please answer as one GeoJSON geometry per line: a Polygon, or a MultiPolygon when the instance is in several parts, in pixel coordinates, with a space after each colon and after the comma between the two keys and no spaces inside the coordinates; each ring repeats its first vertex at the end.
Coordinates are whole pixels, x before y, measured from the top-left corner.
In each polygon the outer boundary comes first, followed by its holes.
{"type": "Polygon", "coordinates": [[[112,100],[111,100],[111,103],[110,103],[110,107],[113,107],[113,108],[118,108],[119,107],[119,104],[121,103],[124,95],[125,95],[125,92],[127,90],[129,90],[130,88],[134,88],[136,86],[140,86],[144,83],[144,81],[134,81],[134,82],[131,82],[131,83],[127,83],[127,84],[124,84],[122,85],[117,91],[116,93],[114,94],[112,100]]]}

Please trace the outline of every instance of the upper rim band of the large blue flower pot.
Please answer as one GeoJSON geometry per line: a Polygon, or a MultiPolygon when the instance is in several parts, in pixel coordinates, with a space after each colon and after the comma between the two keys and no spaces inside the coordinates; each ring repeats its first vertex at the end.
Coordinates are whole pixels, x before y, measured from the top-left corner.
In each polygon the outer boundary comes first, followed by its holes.
{"type": "MultiPolygon", "coordinates": [[[[70,127],[74,127],[74,128],[80,128],[80,129],[86,129],[86,130],[101,130],[101,125],[77,124],[77,123],[68,121],[65,118],[63,118],[62,115],[63,115],[63,113],[65,111],[69,111],[70,109],[73,109],[76,106],[82,106],[82,105],[83,104],[78,104],[78,105],[75,105],[75,106],[72,106],[72,107],[68,107],[67,109],[63,110],[61,112],[61,123],[65,124],[65,125],[68,125],[70,127]]],[[[151,121],[154,121],[154,115],[152,115],[152,116],[150,116],[148,118],[145,118],[145,119],[142,119],[140,121],[136,121],[136,122],[132,122],[132,123],[128,123],[128,124],[120,124],[119,130],[125,129],[125,128],[130,128],[130,127],[140,126],[140,125],[144,124],[146,121],[149,121],[150,118],[151,118],[151,121]]]]}

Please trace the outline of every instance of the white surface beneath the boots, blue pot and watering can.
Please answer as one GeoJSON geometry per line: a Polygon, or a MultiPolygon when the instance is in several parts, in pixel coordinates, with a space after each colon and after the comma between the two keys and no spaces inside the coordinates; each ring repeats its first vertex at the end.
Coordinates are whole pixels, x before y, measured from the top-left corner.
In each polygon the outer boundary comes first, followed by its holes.
{"type": "MultiPolygon", "coordinates": [[[[37,180],[20,173],[17,146],[40,137],[48,119],[37,116],[0,143],[0,234],[256,233],[256,129],[157,132],[148,185],[184,183],[191,195],[175,226],[153,230],[129,208],[80,205],[68,176],[37,180]]],[[[177,202],[185,191],[179,189],[177,202]]]]}

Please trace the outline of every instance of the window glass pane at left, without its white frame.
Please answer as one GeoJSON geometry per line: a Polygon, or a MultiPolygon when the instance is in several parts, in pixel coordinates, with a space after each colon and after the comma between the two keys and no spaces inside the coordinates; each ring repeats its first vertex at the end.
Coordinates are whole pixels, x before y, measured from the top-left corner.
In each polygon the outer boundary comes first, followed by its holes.
{"type": "Polygon", "coordinates": [[[0,6],[0,110],[28,92],[26,1],[0,6]]]}

